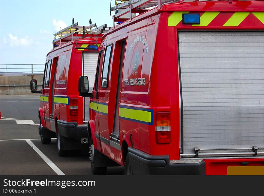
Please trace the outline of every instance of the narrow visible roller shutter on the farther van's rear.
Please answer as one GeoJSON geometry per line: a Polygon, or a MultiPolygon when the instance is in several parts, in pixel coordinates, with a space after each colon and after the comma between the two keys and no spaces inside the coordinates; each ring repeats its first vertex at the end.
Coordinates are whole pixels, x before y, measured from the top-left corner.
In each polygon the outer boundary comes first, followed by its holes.
{"type": "MultiPolygon", "coordinates": [[[[93,90],[95,83],[95,72],[97,67],[98,52],[84,52],[83,54],[83,75],[88,76],[89,92],[93,90]]],[[[89,101],[90,98],[84,98],[84,120],[89,120],[89,101]]]]}

